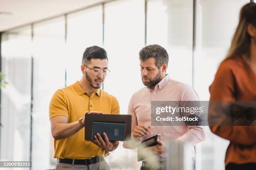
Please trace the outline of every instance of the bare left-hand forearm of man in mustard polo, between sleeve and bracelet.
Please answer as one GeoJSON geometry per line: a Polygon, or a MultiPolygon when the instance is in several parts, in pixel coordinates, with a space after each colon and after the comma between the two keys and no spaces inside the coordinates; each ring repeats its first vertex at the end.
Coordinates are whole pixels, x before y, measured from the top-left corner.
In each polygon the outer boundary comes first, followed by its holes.
{"type": "Polygon", "coordinates": [[[70,136],[76,134],[82,126],[78,121],[72,123],[58,123],[52,133],[55,140],[69,138],[70,136]]]}

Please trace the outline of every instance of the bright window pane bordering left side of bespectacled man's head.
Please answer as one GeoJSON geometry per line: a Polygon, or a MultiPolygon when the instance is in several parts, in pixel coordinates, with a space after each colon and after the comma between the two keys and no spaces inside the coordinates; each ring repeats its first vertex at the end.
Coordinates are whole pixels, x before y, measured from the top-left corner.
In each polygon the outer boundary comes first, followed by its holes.
{"type": "Polygon", "coordinates": [[[82,77],[80,66],[86,47],[102,47],[102,5],[67,16],[67,85],[82,77]]]}

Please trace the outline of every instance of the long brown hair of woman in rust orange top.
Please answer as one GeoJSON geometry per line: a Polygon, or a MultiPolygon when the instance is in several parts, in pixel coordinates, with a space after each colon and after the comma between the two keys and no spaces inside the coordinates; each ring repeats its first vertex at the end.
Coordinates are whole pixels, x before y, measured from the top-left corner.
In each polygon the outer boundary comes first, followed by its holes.
{"type": "Polygon", "coordinates": [[[242,55],[250,56],[251,37],[247,32],[249,24],[256,27],[256,3],[254,2],[247,3],[241,8],[239,23],[226,58],[241,57],[242,55]]]}

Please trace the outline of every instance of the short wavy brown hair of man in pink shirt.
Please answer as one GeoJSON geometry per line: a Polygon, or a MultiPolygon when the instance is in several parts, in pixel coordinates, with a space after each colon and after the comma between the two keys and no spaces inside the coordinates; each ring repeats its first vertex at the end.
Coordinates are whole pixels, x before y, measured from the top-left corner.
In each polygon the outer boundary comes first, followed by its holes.
{"type": "Polygon", "coordinates": [[[154,44],[154,45],[148,45],[146,47],[143,47],[139,53],[140,60],[146,61],[149,58],[153,57],[156,62],[156,67],[160,68],[163,64],[166,64],[168,66],[169,56],[167,51],[164,49],[164,47],[161,47],[160,45],[154,44]]]}

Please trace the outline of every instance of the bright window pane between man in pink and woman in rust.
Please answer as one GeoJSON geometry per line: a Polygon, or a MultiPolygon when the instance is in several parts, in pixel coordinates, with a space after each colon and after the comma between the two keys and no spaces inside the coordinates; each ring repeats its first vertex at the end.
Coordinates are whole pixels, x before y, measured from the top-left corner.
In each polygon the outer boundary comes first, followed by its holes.
{"type": "MultiPolygon", "coordinates": [[[[220,62],[225,58],[238,25],[239,11],[248,0],[197,0],[196,50],[194,57],[194,88],[200,100],[209,100],[211,85],[220,62]],[[227,9],[228,6],[228,10],[227,9]],[[230,19],[232,18],[232,19],[230,19]]],[[[207,139],[200,148],[201,164],[209,170],[224,170],[228,140],[217,137],[207,129],[207,139]]],[[[198,151],[200,151],[198,150],[198,151]]]]}

